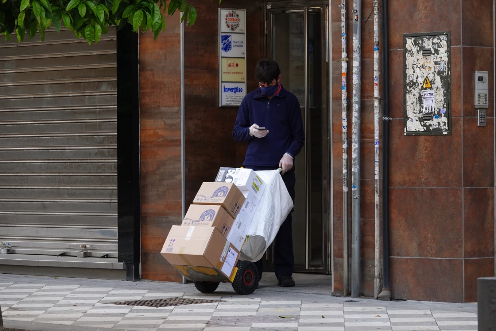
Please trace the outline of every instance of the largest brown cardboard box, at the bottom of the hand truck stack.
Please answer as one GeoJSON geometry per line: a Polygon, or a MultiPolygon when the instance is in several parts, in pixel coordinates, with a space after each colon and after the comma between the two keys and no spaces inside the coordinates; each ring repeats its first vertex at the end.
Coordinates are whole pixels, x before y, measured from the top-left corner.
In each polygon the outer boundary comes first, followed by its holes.
{"type": "MultiPolygon", "coordinates": [[[[239,251],[211,226],[173,225],[160,254],[180,272],[177,266],[204,267],[224,279],[234,278],[240,257],[239,251]]],[[[199,278],[191,280],[202,280],[199,278]]]]}

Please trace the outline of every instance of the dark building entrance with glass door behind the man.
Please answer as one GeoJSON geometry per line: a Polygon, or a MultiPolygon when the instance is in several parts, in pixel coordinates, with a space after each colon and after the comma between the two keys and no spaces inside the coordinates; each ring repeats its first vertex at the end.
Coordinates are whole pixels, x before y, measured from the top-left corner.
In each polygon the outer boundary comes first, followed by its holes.
{"type": "MultiPolygon", "coordinates": [[[[295,271],[331,271],[328,1],[265,3],[267,57],[300,102],[305,146],[295,160],[295,271]],[[303,4],[305,2],[305,4],[303,4]],[[312,5],[309,5],[312,2],[312,5]]],[[[272,249],[266,265],[272,270],[272,249]]]]}

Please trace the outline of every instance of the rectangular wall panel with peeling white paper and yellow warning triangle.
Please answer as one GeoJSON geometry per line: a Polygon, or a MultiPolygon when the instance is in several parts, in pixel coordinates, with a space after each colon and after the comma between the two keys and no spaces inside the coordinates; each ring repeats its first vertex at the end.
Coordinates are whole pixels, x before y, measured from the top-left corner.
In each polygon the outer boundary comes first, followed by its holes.
{"type": "Polygon", "coordinates": [[[451,134],[450,32],[404,34],[404,134],[451,134]]]}

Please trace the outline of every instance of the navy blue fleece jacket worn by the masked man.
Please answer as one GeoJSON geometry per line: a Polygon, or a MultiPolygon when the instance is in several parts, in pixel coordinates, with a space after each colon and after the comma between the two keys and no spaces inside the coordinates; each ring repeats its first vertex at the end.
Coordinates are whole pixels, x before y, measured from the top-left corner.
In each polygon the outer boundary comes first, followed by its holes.
{"type": "Polygon", "coordinates": [[[300,103],[296,96],[284,89],[270,100],[260,88],[248,93],[241,102],[233,138],[248,141],[244,165],[279,166],[284,153],[293,159],[300,153],[305,141],[300,103]],[[269,133],[263,138],[249,135],[249,127],[256,123],[269,133]]]}

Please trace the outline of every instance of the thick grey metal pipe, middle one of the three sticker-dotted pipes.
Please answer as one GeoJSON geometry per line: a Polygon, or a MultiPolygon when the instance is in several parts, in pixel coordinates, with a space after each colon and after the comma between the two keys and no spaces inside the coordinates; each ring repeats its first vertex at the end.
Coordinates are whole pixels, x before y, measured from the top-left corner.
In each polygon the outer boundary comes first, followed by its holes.
{"type": "Polygon", "coordinates": [[[351,208],[351,296],[360,291],[360,102],[362,62],[362,0],[353,1],[353,144],[351,208]]]}

